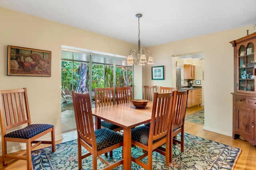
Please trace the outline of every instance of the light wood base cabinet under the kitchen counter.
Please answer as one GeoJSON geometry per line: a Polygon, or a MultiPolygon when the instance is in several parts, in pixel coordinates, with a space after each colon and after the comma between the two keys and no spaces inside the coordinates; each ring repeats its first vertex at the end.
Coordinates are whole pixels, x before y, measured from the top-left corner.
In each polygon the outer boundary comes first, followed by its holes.
{"type": "Polygon", "coordinates": [[[188,92],[188,107],[202,104],[202,89],[193,89],[188,92]]]}

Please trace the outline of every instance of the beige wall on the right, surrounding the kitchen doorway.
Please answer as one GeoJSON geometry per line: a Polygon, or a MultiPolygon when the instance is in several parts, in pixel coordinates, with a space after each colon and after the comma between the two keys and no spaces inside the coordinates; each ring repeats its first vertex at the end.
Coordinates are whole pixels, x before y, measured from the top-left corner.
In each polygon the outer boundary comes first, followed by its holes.
{"type": "MultiPolygon", "coordinates": [[[[184,39],[150,47],[155,64],[165,66],[165,80],[152,81],[147,75],[146,84],[175,86],[175,59],[171,56],[198,51],[204,52],[204,129],[232,135],[232,95],[234,92],[234,62],[232,40],[252,33],[252,25],[208,35],[184,39]]],[[[150,72],[151,66],[147,66],[150,72]]]]}

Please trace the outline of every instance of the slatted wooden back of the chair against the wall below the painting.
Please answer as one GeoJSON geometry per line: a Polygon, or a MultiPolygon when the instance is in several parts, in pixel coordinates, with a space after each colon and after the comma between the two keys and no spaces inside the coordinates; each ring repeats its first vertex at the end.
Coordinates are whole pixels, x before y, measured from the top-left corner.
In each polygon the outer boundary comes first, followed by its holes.
{"type": "Polygon", "coordinates": [[[0,90],[0,119],[2,135],[6,130],[31,124],[26,88],[0,90]]]}

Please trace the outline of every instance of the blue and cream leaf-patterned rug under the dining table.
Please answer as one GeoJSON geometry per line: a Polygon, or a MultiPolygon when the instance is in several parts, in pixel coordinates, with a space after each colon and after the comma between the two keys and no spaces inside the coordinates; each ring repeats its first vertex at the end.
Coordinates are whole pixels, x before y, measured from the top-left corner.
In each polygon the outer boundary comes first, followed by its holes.
{"type": "MultiPolygon", "coordinates": [[[[178,136],[179,137],[179,136],[178,136]]],[[[232,170],[236,164],[241,149],[203,139],[185,133],[184,152],[180,152],[180,145],[173,147],[173,161],[170,166],[165,166],[165,157],[157,152],[153,152],[153,170],[232,170]]],[[[51,152],[51,147],[32,151],[32,163],[34,170],[77,170],[77,140],[68,141],[56,145],[56,151],[51,152]]],[[[87,150],[83,150],[87,152],[87,150]]],[[[142,150],[132,147],[132,156],[137,157],[142,154],[142,150]]],[[[108,161],[116,162],[122,158],[122,149],[113,150],[113,157],[108,157],[108,161]]],[[[143,159],[147,162],[147,157],[143,159]]],[[[98,169],[105,166],[98,160],[98,169]]],[[[92,170],[92,157],[83,159],[83,170],[92,170]]],[[[122,170],[123,166],[118,166],[114,170],[122,170]]],[[[143,168],[132,162],[132,170],[142,170],[143,168]]]]}

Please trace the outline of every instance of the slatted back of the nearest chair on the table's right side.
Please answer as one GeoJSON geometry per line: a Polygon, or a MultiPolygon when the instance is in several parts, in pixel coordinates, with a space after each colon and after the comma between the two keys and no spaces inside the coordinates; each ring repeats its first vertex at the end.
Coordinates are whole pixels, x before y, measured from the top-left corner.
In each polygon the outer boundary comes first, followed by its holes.
{"type": "Polygon", "coordinates": [[[149,142],[169,133],[171,117],[174,113],[176,92],[154,93],[149,142]]]}

